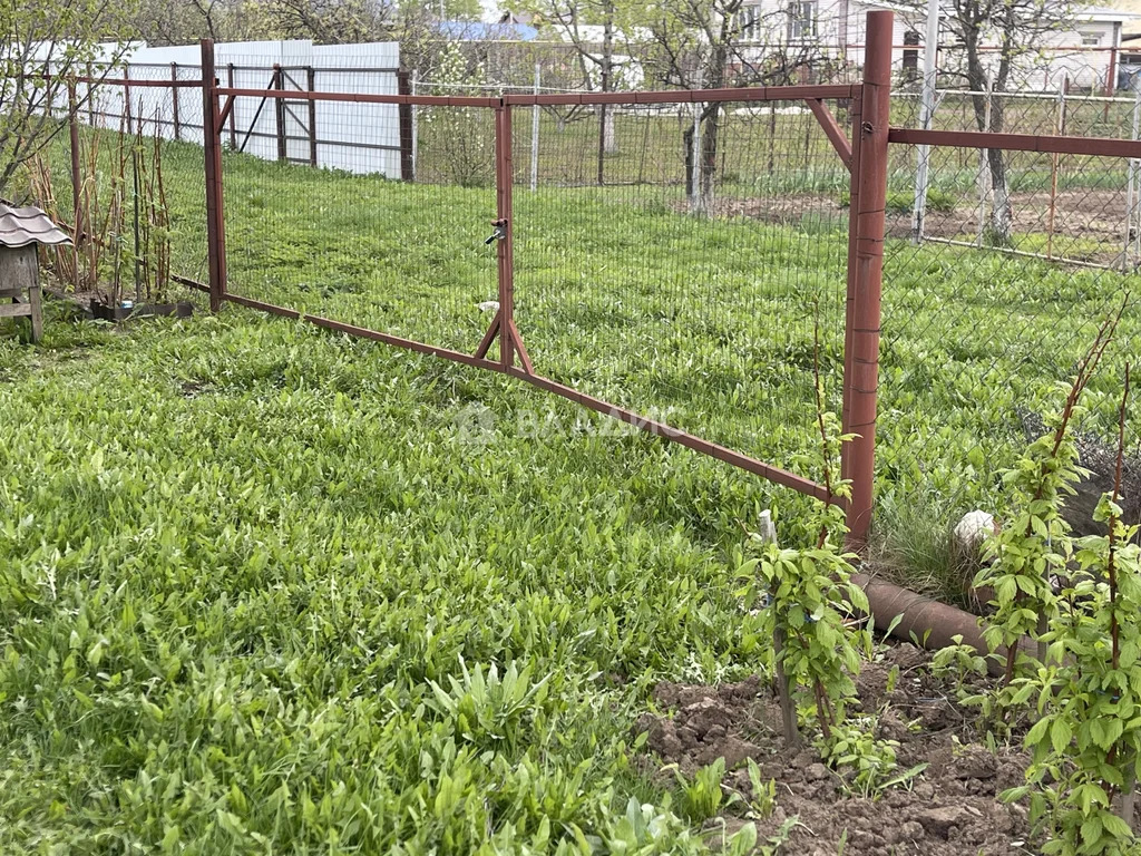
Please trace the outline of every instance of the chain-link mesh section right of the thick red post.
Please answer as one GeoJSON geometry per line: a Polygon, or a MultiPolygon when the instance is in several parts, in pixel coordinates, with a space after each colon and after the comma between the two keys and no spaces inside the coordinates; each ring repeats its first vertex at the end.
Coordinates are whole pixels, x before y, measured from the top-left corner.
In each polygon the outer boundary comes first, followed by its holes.
{"type": "MultiPolygon", "coordinates": [[[[917,146],[892,147],[899,163],[920,156],[917,146]]],[[[1130,300],[1141,256],[1135,161],[934,147],[930,164],[920,241],[914,170],[889,177],[898,205],[887,220],[877,527],[946,551],[962,514],[1002,509],[1002,471],[1045,433],[1043,414],[1065,397],[1059,385],[1125,306],[1079,425],[1086,452],[1112,446],[1124,365],[1141,340],[1130,300]]],[[[1141,411],[1130,406],[1135,458],[1141,411]]],[[[1107,475],[1094,477],[1104,486],[1107,475]]]]}

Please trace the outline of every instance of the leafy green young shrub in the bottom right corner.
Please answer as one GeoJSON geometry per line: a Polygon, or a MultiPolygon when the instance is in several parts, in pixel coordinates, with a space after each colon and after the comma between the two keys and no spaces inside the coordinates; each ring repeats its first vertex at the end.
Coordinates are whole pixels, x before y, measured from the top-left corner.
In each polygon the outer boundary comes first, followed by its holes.
{"type": "Polygon", "coordinates": [[[1061,619],[1043,636],[1053,663],[1019,681],[1038,698],[1041,718],[1026,736],[1034,751],[1031,817],[1049,829],[1047,854],[1134,854],[1133,796],[1141,765],[1141,551],[1118,499],[1125,452],[1128,369],[1118,428],[1112,493],[1095,519],[1107,534],[1083,539],[1078,571],[1063,592],[1061,619]]]}

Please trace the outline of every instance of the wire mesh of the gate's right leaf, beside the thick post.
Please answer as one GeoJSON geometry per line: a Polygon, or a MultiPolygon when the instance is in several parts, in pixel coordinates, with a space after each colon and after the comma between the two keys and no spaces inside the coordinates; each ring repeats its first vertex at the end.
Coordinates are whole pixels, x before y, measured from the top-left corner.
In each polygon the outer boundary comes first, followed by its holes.
{"type": "MultiPolygon", "coordinates": [[[[827,405],[841,398],[845,164],[803,102],[615,113],[610,139],[600,122],[541,136],[537,181],[515,164],[535,371],[819,478],[817,362],[827,405]]],[[[516,110],[516,151],[533,121],[516,110]]]]}

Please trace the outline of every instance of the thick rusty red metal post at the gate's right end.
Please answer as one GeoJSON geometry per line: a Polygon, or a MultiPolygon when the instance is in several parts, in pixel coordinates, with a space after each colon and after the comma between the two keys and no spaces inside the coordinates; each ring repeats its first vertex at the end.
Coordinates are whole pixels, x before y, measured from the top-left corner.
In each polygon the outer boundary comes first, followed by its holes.
{"type": "Polygon", "coordinates": [[[844,331],[844,431],[857,436],[843,458],[851,481],[848,548],[863,549],[872,525],[876,388],[880,374],[880,291],[883,284],[891,108],[892,13],[867,14],[864,82],[853,122],[849,203],[848,307],[844,331]]]}

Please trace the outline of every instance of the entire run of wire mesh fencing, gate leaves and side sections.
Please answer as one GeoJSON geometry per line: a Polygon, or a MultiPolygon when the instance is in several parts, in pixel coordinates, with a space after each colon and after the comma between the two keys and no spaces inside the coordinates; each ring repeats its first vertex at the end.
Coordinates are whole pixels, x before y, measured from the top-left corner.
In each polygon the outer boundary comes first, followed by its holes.
{"type": "MultiPolygon", "coordinates": [[[[850,358],[852,176],[836,150],[857,119],[858,87],[811,89],[825,98],[830,137],[808,90],[784,100],[760,90],[608,100],[536,97],[521,84],[495,97],[485,88],[440,95],[437,86],[407,97],[415,81],[394,76],[385,91],[356,92],[347,71],[335,74],[342,84],[331,91],[292,87],[284,70],[273,71],[269,90],[252,79],[215,90],[229,297],[476,360],[510,294],[535,374],[792,470],[801,490],[819,478],[817,381],[824,406],[839,412],[850,358]],[[326,150],[341,160],[326,161],[326,150]],[[513,243],[505,253],[492,225],[500,218],[513,243]]],[[[168,267],[205,282],[215,278],[209,179],[188,112],[196,100],[205,124],[202,92],[153,82],[81,111],[79,160],[91,159],[83,175],[96,177],[99,199],[119,193],[128,213],[136,202],[145,213],[146,179],[131,188],[157,154],[168,267]],[[176,110],[189,122],[173,138],[165,118],[176,110]],[[122,152],[133,154],[123,161],[122,152]],[[119,162],[128,168],[115,185],[119,162]]],[[[908,97],[896,98],[897,113],[908,97]]],[[[1033,119],[1043,134],[1065,124],[1075,135],[1102,128],[1107,105],[1127,108],[1132,122],[1136,103],[988,98],[992,124],[995,105],[1005,105],[997,112],[1008,131],[1033,119]]],[[[960,113],[955,104],[946,96],[936,129],[977,129],[976,95],[963,96],[960,113]]],[[[907,115],[895,124],[907,128],[907,115]]],[[[1049,410],[1051,385],[1135,288],[1138,164],[1078,153],[1079,139],[1073,148],[887,147],[884,530],[905,531],[928,511],[944,525],[993,507],[1026,414],[1049,410]]],[[[63,212],[75,209],[68,150],[63,134],[48,159],[63,212]]],[[[76,186],[88,192],[86,179],[76,186]]],[[[135,249],[130,225],[127,217],[113,231],[118,249],[100,263],[126,265],[128,280],[151,255],[135,249]]],[[[1130,309],[1107,378],[1138,324],[1130,309]]],[[[1093,389],[1083,426],[1091,436],[1106,433],[1112,386],[1093,389]]]]}

